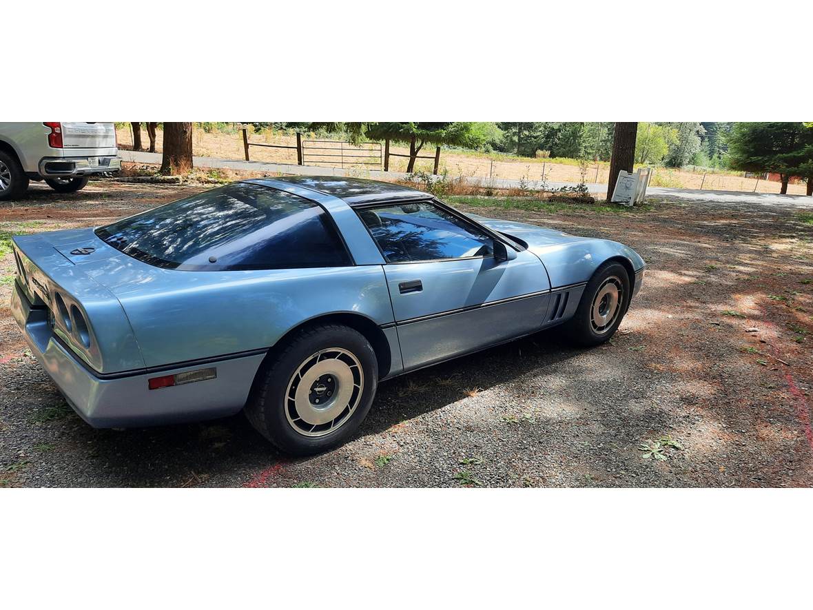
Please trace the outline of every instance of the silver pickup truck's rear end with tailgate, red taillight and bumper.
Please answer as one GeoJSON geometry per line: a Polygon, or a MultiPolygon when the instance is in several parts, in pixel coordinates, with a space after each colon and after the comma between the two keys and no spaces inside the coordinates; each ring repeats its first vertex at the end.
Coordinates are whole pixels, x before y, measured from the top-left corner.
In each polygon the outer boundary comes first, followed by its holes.
{"type": "Polygon", "coordinates": [[[37,159],[37,173],[45,178],[117,172],[121,159],[113,123],[43,123],[47,148],[37,159]]]}

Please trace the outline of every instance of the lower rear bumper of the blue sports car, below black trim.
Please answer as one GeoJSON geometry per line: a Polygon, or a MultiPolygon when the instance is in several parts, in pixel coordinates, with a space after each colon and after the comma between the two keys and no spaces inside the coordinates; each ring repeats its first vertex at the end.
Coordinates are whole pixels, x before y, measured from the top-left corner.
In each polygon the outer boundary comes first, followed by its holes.
{"type": "Polygon", "coordinates": [[[150,377],[198,370],[201,365],[161,372],[99,376],[63,346],[51,332],[46,307],[33,307],[15,282],[11,312],[37,361],[46,369],[67,403],[95,428],[159,425],[232,415],[248,399],[263,354],[219,360],[215,379],[150,390],[150,377]]]}

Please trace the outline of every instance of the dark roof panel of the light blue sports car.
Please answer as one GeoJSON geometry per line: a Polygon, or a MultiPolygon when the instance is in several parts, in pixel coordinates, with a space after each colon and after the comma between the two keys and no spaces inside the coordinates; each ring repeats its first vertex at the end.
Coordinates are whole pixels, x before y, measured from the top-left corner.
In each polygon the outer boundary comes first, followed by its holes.
{"type": "MultiPolygon", "coordinates": [[[[432,198],[431,194],[424,193],[422,190],[411,189],[408,186],[345,176],[282,176],[274,178],[274,181],[286,182],[290,185],[333,195],[333,197],[344,199],[351,206],[377,201],[392,201],[393,199],[432,198]]],[[[258,180],[256,182],[262,183],[263,181],[258,180]]]]}

